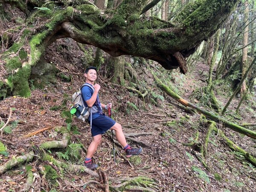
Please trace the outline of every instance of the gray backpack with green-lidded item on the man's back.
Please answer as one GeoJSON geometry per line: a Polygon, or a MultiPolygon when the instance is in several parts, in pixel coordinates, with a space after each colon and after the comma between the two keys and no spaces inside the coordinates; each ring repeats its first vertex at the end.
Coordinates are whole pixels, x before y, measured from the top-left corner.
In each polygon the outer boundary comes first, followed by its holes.
{"type": "Polygon", "coordinates": [[[89,107],[85,107],[86,105],[84,104],[84,99],[82,96],[82,88],[84,86],[88,86],[90,87],[93,92],[94,92],[94,87],[89,84],[89,83],[84,83],[82,85],[82,87],[79,89],[79,91],[77,91],[76,93],[74,93],[72,95],[72,102],[74,103],[73,107],[70,109],[70,113],[71,114],[75,114],[76,117],[80,120],[82,120],[83,122],[85,120],[88,119],[89,115],[91,114],[91,122],[92,122],[92,113],[97,113],[98,112],[98,108],[96,106],[93,106],[92,108],[89,107]]]}

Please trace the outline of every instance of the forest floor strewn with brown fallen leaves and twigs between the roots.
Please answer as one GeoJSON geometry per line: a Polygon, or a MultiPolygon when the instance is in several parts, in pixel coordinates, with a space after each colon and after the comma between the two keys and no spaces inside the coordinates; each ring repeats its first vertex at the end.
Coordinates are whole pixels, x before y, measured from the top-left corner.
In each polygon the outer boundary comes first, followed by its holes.
{"type": "MultiPolygon", "coordinates": [[[[58,59],[58,57],[56,57],[58,59]]],[[[64,61],[63,61],[64,62],[64,61]]],[[[65,64],[65,63],[64,63],[65,64]]],[[[78,74],[82,74],[82,69],[78,69],[78,74]]],[[[190,97],[193,90],[206,84],[205,74],[208,72],[208,66],[198,62],[193,73],[186,76],[180,76],[175,73],[175,81],[183,79],[183,85],[179,87],[180,96],[192,103],[198,103],[196,99],[190,97]]],[[[154,80],[151,76],[146,77],[148,83],[154,80]]],[[[179,82],[175,82],[179,83],[179,82]]],[[[8,156],[0,155],[0,165],[6,161],[28,152],[33,145],[38,146],[49,140],[61,140],[61,135],[57,134],[53,128],[50,128],[35,136],[23,138],[25,134],[45,127],[66,127],[65,118],[61,117],[61,112],[68,109],[71,101],[67,100],[66,106],[63,102],[81,86],[84,78],[73,75],[72,82],[63,82],[58,80],[55,86],[45,87],[43,90],[33,90],[29,98],[13,96],[0,102],[0,117],[4,122],[9,118],[9,108],[15,108],[12,111],[11,122],[20,120],[17,126],[14,126],[12,133],[3,133],[0,140],[7,146],[8,156]],[[59,106],[55,111],[53,106],[59,106]]],[[[104,170],[111,177],[135,177],[146,176],[153,178],[159,184],[159,191],[175,192],[252,192],[255,191],[256,169],[247,161],[239,156],[239,153],[231,151],[221,140],[219,135],[212,134],[210,137],[208,151],[205,161],[209,170],[205,169],[200,161],[195,157],[192,151],[196,150],[182,143],[190,143],[195,138],[196,130],[199,130],[199,142],[203,140],[207,130],[207,125],[199,121],[198,116],[187,114],[180,106],[169,96],[158,100],[158,106],[141,106],[141,99],[132,95],[122,87],[111,85],[103,76],[99,78],[99,84],[102,85],[100,98],[102,103],[112,101],[113,118],[119,122],[125,133],[145,133],[134,139],[143,142],[143,152],[140,154],[141,163],[136,166],[130,166],[122,158],[116,156],[120,161],[116,165],[111,156],[111,138],[103,136],[102,143],[98,147],[93,161],[99,164],[95,170],[104,170]],[[108,85],[108,86],[106,86],[108,85]],[[139,110],[126,108],[127,102],[132,102],[139,106],[139,110]],[[117,110],[118,109],[118,110],[117,110]],[[165,123],[171,121],[172,126],[165,123]]],[[[157,91],[157,90],[156,90],[157,91]]],[[[221,90],[218,90],[221,93],[221,90]]],[[[227,93],[226,93],[227,94],[227,93]]],[[[222,104],[227,102],[228,96],[218,95],[218,100],[222,104]]],[[[254,98],[255,99],[255,98],[254,98]]],[[[233,110],[239,100],[234,99],[229,110],[233,110]]],[[[198,103],[200,104],[200,103],[198,103]]],[[[228,117],[227,117],[228,118],[228,117]]],[[[237,122],[255,122],[256,108],[254,106],[241,106],[241,118],[237,122]]],[[[9,123],[12,125],[11,123],[9,123]]],[[[92,137],[90,135],[90,125],[80,122],[74,118],[72,123],[73,130],[71,141],[77,143],[80,141],[85,148],[90,144],[92,137]]],[[[256,157],[256,141],[242,134],[236,133],[229,128],[218,126],[225,134],[244,150],[250,152],[256,157]]],[[[128,141],[134,146],[135,143],[128,141]]],[[[118,145],[117,150],[124,155],[124,151],[118,145]]],[[[56,158],[55,151],[51,152],[56,158]]],[[[82,164],[82,159],[86,156],[86,151],[81,151],[81,160],[76,164],[82,164]]],[[[42,161],[34,160],[29,163],[34,172],[34,191],[49,191],[51,186],[47,181],[38,175],[42,161]]],[[[58,170],[57,170],[58,172],[58,170]]],[[[92,186],[84,186],[87,180],[92,179],[86,173],[65,173],[64,178],[58,178],[60,186],[56,187],[58,191],[100,191],[99,188],[93,189],[92,186]],[[69,180],[70,183],[65,182],[69,180]],[[72,184],[73,183],[73,184],[72,184]],[[81,187],[74,187],[80,184],[81,187]]],[[[26,182],[26,168],[19,165],[0,176],[0,191],[18,191],[22,189],[26,182]]],[[[31,190],[32,191],[32,190],[31,190]]]]}

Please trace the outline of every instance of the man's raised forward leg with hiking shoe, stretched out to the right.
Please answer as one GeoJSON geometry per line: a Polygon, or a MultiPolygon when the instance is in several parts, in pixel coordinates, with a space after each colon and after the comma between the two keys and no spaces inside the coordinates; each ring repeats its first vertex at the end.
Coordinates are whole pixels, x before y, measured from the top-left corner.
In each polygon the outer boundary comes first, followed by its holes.
{"type": "Polygon", "coordinates": [[[115,130],[116,132],[116,139],[125,149],[126,157],[131,157],[132,155],[138,155],[141,153],[142,148],[132,148],[130,145],[127,144],[125,135],[122,131],[122,126],[119,123],[115,123],[111,128],[111,130],[115,130]]]}

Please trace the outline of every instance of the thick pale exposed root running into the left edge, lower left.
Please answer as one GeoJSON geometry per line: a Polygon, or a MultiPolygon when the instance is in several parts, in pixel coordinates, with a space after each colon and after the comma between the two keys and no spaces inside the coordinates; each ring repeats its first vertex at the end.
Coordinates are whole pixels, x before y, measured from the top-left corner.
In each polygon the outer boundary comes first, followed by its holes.
{"type": "Polygon", "coordinates": [[[15,159],[7,161],[2,166],[0,166],[0,175],[2,175],[4,172],[8,171],[12,167],[17,166],[18,164],[31,161],[33,158],[34,152],[30,151],[28,154],[15,157],[15,159]]]}

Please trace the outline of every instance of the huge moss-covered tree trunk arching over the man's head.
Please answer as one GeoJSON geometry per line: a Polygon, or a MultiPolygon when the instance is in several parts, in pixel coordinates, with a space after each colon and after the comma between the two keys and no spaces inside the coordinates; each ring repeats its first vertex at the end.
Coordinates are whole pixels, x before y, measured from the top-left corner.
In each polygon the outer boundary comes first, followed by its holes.
{"type": "MultiPolygon", "coordinates": [[[[0,2],[16,6],[27,15],[26,28],[14,29],[11,34],[20,33],[20,38],[15,40],[17,43],[10,44],[12,47],[0,55],[8,71],[5,85],[0,89],[8,89],[13,95],[29,96],[27,80],[31,67],[40,61],[49,44],[59,38],[94,45],[112,56],[149,58],[166,69],[180,67],[186,73],[185,58],[195,52],[201,41],[215,33],[238,0],[189,2],[173,23],[157,17],[141,17],[147,0],[125,0],[105,12],[87,0],[0,2]],[[34,26],[37,17],[44,24],[34,26]]],[[[2,34],[8,35],[7,32],[2,34]]]]}

